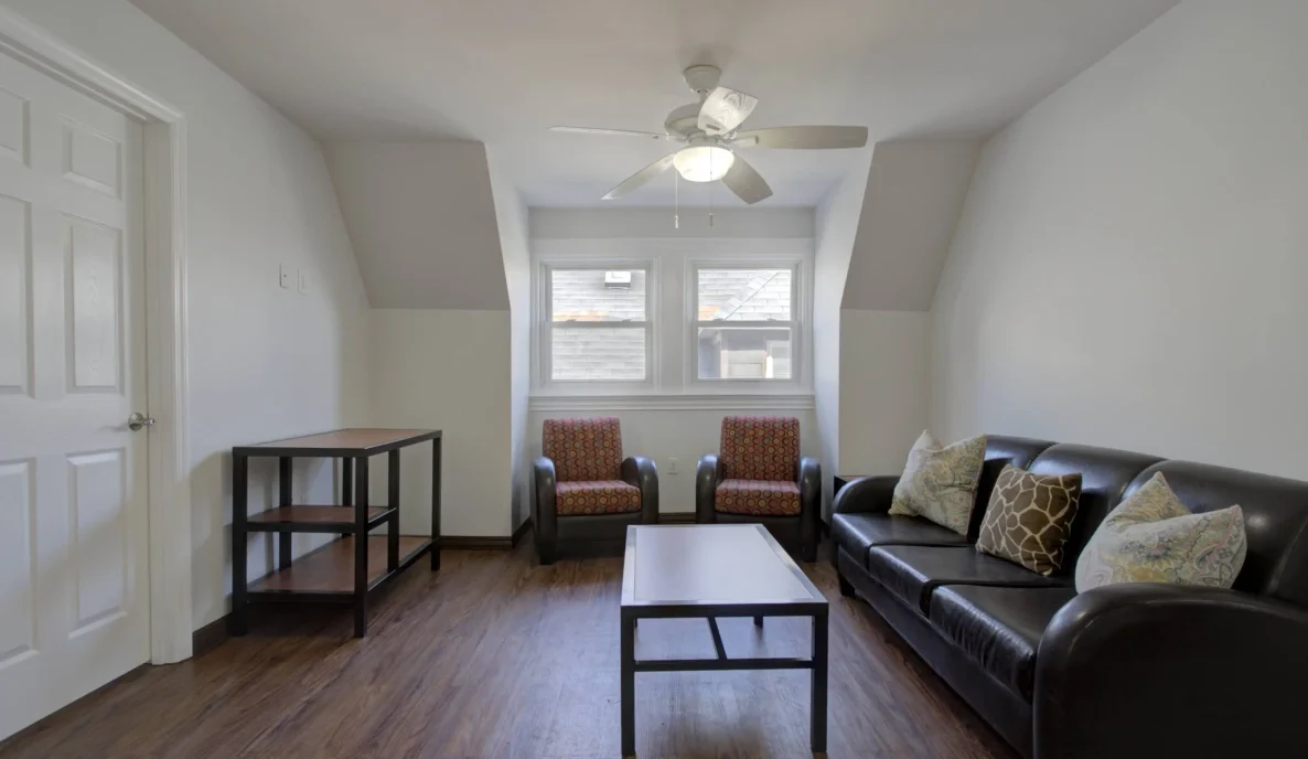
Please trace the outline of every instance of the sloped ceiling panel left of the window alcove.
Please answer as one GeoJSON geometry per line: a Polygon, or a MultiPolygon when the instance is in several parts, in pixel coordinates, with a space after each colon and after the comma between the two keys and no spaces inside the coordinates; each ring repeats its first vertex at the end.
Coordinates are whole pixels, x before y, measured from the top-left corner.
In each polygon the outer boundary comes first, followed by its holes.
{"type": "Polygon", "coordinates": [[[481,143],[332,143],[326,153],[374,309],[509,309],[481,143]]]}

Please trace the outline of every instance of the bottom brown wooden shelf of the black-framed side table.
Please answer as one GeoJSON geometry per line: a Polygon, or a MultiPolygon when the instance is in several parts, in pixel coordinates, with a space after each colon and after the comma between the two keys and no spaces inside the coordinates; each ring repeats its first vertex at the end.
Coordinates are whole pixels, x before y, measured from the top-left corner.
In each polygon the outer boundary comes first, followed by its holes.
{"type": "MultiPolygon", "coordinates": [[[[416,560],[432,539],[424,535],[400,535],[400,564],[396,572],[416,560]]],[[[386,535],[368,538],[368,586],[386,580],[386,535]]],[[[341,538],[305,554],[289,568],[279,569],[263,580],[250,584],[250,595],[277,594],[341,595],[351,601],[354,594],[354,538],[341,538]]]]}

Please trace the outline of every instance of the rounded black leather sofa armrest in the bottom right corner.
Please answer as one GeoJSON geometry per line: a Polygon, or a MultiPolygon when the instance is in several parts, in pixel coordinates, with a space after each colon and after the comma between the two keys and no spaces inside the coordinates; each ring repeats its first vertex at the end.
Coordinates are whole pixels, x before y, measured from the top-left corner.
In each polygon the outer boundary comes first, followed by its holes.
{"type": "Polygon", "coordinates": [[[1308,612],[1216,588],[1082,593],[1036,656],[1036,759],[1303,751],[1308,612]]]}

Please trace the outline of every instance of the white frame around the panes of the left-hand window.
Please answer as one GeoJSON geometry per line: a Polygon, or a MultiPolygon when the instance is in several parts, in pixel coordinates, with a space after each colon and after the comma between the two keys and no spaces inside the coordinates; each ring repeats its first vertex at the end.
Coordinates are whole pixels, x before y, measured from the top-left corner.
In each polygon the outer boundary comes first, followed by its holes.
{"type": "Polygon", "coordinates": [[[658,260],[649,256],[604,256],[593,255],[548,255],[540,256],[535,267],[535,304],[532,308],[531,364],[532,385],[536,390],[559,395],[596,395],[650,393],[657,386],[658,377],[658,260]],[[644,271],[645,272],[645,321],[642,322],[555,322],[553,321],[553,272],[555,271],[644,271]],[[556,325],[579,328],[644,328],[645,330],[645,377],[642,380],[555,380],[553,378],[553,330],[556,325]]]}

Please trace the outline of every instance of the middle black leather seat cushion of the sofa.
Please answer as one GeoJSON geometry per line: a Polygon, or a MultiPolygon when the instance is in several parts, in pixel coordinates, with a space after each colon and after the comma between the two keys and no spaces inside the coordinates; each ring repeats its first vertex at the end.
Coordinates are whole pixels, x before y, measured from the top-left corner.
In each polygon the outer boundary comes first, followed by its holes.
{"type": "Polygon", "coordinates": [[[905,603],[927,612],[940,585],[1065,588],[1066,577],[1045,577],[1016,564],[986,556],[971,546],[880,546],[867,551],[867,572],[905,603]]]}

